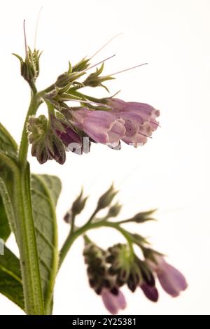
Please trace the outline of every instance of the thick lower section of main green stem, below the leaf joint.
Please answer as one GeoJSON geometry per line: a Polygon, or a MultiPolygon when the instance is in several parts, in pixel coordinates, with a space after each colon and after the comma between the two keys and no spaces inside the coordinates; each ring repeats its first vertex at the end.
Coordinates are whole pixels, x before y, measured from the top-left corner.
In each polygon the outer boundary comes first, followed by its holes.
{"type": "Polygon", "coordinates": [[[22,284],[25,296],[25,311],[28,315],[44,314],[38,252],[31,209],[30,172],[20,171],[16,178],[15,214],[18,228],[18,246],[22,284]]]}

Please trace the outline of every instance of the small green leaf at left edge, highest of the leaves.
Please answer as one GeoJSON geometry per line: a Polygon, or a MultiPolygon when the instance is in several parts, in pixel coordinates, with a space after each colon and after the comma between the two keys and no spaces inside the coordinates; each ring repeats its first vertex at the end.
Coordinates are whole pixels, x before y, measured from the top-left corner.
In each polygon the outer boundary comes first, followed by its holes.
{"type": "Polygon", "coordinates": [[[8,133],[5,127],[0,123],[0,151],[4,153],[17,155],[18,146],[13,137],[8,133]]]}

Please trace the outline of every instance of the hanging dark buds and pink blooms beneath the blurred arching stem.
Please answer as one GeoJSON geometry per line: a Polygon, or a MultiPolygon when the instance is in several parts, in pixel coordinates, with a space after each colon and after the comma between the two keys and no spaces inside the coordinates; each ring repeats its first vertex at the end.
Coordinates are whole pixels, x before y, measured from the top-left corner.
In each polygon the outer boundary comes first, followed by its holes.
{"type": "Polygon", "coordinates": [[[172,297],[177,297],[186,290],[188,284],[178,269],[169,265],[160,253],[144,248],[149,255],[140,260],[136,254],[130,253],[127,244],[117,244],[107,251],[89,241],[85,246],[84,255],[87,264],[87,275],[90,286],[94,288],[106,309],[117,314],[125,309],[125,297],[120,288],[127,287],[134,293],[139,287],[152,302],[158,302],[158,289],[155,279],[158,277],[162,288],[172,297]]]}

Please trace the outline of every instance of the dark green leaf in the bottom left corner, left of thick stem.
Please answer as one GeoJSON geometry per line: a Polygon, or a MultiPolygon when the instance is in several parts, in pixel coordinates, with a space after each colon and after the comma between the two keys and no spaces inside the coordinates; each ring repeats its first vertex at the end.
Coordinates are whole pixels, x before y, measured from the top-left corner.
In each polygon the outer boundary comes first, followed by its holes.
{"type": "Polygon", "coordinates": [[[24,309],[20,261],[6,246],[0,255],[0,293],[24,309]]]}

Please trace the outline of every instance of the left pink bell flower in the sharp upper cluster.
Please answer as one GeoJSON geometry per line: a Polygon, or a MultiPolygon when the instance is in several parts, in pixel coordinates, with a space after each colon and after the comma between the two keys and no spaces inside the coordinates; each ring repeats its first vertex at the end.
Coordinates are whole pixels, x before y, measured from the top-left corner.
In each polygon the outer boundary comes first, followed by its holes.
{"type": "Polygon", "coordinates": [[[71,114],[73,124],[98,143],[119,143],[125,137],[125,121],[109,111],[80,108],[71,114]]]}

